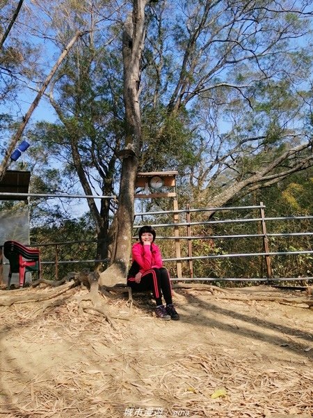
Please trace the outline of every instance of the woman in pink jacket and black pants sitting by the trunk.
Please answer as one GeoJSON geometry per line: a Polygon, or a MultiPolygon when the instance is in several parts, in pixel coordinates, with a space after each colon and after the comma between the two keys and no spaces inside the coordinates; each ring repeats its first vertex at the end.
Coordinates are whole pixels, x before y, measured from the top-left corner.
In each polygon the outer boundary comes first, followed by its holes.
{"type": "Polygon", "coordinates": [[[154,244],[156,232],[152,226],[143,226],[138,231],[139,242],[131,249],[132,264],[127,276],[127,286],[134,291],[149,291],[157,304],[155,313],[157,318],[178,320],[179,315],[172,304],[172,288],[170,275],[163,268],[163,261],[159,246],[154,244]],[[162,302],[162,295],[166,307],[162,302]]]}

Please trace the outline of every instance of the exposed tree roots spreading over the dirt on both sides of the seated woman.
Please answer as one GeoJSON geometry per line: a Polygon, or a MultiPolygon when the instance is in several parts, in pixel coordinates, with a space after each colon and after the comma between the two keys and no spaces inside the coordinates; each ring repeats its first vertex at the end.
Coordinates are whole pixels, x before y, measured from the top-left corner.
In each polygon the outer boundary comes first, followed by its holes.
{"type": "MultiPolygon", "coordinates": [[[[117,330],[117,327],[113,319],[124,319],[129,320],[127,317],[118,317],[112,316],[109,314],[108,304],[104,303],[106,297],[110,296],[110,293],[128,293],[128,300],[126,302],[127,307],[129,307],[129,314],[131,314],[134,302],[131,288],[128,288],[126,284],[114,284],[114,286],[102,286],[99,289],[99,274],[96,272],[89,272],[87,270],[83,272],[70,272],[63,279],[59,281],[50,281],[45,279],[40,279],[34,281],[32,287],[39,286],[40,284],[45,284],[47,286],[52,286],[54,291],[51,293],[38,292],[38,293],[28,293],[27,289],[17,289],[13,291],[5,291],[1,295],[0,293],[0,306],[10,307],[13,304],[21,303],[31,303],[31,302],[45,302],[42,304],[37,311],[39,315],[43,314],[47,309],[54,308],[65,304],[68,297],[72,295],[69,291],[77,286],[86,287],[89,289],[88,294],[79,295],[77,297],[79,314],[83,314],[86,311],[95,311],[98,314],[104,316],[106,321],[111,325],[113,330],[117,330]],[[57,299],[59,296],[61,298],[57,299]]],[[[307,307],[313,309],[313,298],[310,297],[279,297],[275,295],[266,296],[266,295],[236,295],[234,294],[238,291],[237,288],[234,289],[225,289],[218,286],[211,286],[208,284],[172,284],[173,295],[179,300],[181,295],[176,293],[175,290],[185,289],[194,290],[194,291],[209,291],[212,297],[218,297],[219,299],[225,300],[238,300],[243,302],[277,302],[280,304],[293,304],[299,307],[307,307]],[[222,293],[218,294],[218,293],[222,293]]]]}

